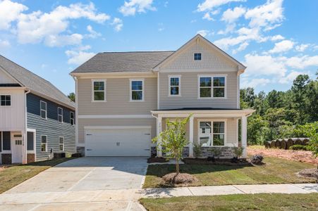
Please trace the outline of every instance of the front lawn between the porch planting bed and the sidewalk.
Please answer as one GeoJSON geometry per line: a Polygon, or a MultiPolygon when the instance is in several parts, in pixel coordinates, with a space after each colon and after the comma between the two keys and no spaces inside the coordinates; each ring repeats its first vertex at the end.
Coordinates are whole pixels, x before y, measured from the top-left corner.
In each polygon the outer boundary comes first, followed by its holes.
{"type": "MultiPolygon", "coordinates": [[[[307,183],[314,179],[299,177],[296,173],[315,168],[304,162],[281,158],[265,158],[266,165],[180,165],[181,173],[193,174],[198,181],[190,186],[218,186],[228,184],[282,184],[307,183]]],[[[167,186],[161,180],[165,174],[175,172],[175,165],[149,165],[143,188],[167,186]]]]}

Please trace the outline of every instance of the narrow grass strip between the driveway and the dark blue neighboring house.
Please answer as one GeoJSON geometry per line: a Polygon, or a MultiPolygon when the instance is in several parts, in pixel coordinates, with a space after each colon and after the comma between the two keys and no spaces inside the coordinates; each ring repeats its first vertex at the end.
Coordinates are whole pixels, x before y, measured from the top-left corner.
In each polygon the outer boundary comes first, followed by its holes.
{"type": "Polygon", "coordinates": [[[73,158],[56,158],[53,160],[32,162],[27,165],[12,165],[6,167],[4,170],[0,171],[0,193],[8,191],[8,189],[34,177],[39,174],[39,172],[47,170],[49,167],[71,159],[73,158]]]}

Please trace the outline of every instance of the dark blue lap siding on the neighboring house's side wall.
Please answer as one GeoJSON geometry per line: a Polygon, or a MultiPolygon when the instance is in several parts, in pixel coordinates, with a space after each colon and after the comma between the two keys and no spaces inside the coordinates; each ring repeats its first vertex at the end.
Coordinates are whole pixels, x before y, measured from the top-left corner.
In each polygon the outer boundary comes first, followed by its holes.
{"type": "Polygon", "coordinates": [[[75,153],[75,125],[69,122],[70,111],[34,94],[27,94],[27,128],[36,129],[37,160],[45,160],[59,151],[59,136],[64,137],[64,152],[75,153]],[[47,102],[47,120],[39,116],[39,101],[47,102]],[[63,108],[63,123],[57,120],[57,108],[63,108]],[[41,135],[47,135],[47,153],[41,152],[41,135]],[[52,154],[50,153],[52,149],[52,154]]]}

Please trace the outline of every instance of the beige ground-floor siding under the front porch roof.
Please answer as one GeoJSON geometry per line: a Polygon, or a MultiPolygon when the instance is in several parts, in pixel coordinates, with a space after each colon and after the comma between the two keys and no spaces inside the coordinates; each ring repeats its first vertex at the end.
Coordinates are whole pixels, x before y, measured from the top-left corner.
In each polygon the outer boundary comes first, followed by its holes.
{"type": "MultiPolygon", "coordinates": [[[[167,118],[163,118],[162,119],[162,131],[164,131],[164,129],[166,129],[166,119],[167,118]]],[[[176,118],[169,118],[171,120],[175,120],[176,118]]],[[[236,118],[217,118],[217,120],[226,120],[226,146],[237,146],[238,144],[238,125],[237,125],[237,120],[236,118]]],[[[193,143],[197,143],[199,138],[197,136],[198,132],[199,132],[199,121],[202,120],[202,118],[197,118],[195,117],[193,120],[193,143]]],[[[216,119],[213,118],[207,118],[204,120],[210,120],[210,121],[214,121],[216,119]]],[[[187,134],[186,134],[186,138],[189,140],[189,131],[190,131],[190,126],[189,123],[186,126],[187,129],[187,134]]]]}

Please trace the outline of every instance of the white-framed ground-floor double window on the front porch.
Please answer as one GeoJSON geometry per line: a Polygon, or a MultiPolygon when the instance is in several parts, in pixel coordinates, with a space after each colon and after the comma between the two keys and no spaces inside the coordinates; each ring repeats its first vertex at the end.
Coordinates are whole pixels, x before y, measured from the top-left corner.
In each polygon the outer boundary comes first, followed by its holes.
{"type": "Polygon", "coordinates": [[[200,122],[199,139],[202,146],[224,146],[225,122],[200,122]]]}

